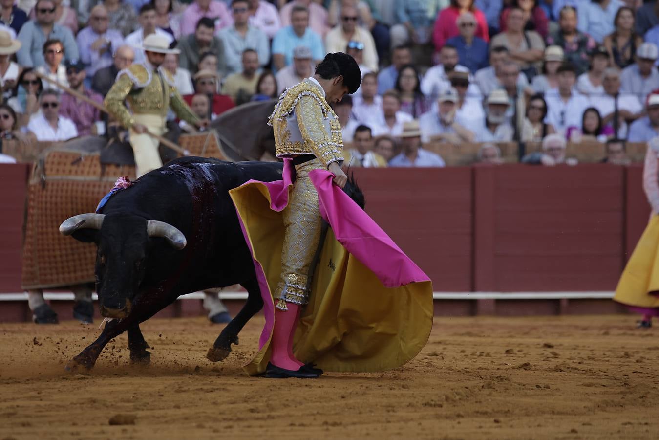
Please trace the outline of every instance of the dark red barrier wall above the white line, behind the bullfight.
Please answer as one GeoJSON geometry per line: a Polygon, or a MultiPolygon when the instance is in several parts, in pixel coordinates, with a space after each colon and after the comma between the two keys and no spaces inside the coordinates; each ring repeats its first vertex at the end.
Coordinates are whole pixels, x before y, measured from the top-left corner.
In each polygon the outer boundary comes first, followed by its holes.
{"type": "MultiPolygon", "coordinates": [[[[355,170],[438,292],[614,290],[649,207],[641,166],[355,170]]],[[[0,292],[20,292],[28,166],[0,165],[0,292]]]]}

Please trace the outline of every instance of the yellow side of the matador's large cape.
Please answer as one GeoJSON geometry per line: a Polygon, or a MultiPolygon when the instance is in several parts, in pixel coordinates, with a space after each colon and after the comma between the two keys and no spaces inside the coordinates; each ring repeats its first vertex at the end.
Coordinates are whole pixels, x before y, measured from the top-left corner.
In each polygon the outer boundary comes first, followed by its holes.
{"type": "MultiPolygon", "coordinates": [[[[281,273],[285,232],[281,212],[270,209],[270,195],[260,183],[244,185],[230,193],[253,256],[266,272],[273,301],[273,289],[281,273]]],[[[432,317],[430,281],[384,287],[329,229],[293,350],[302,362],[316,363],[326,371],[393,369],[413,359],[424,347],[432,329],[432,317]]],[[[266,370],[269,348],[270,341],[244,367],[248,374],[266,370]]]]}

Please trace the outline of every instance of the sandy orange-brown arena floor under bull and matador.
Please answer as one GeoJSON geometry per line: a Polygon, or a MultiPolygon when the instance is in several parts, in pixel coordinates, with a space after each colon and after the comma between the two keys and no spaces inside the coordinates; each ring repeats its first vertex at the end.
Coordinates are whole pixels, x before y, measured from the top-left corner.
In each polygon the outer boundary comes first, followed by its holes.
{"type": "Polygon", "coordinates": [[[401,369],[306,381],[243,374],[261,323],[213,364],[220,327],[152,320],[150,366],[130,365],[124,335],[89,375],[63,367],[98,323],[0,324],[0,440],[659,437],[659,329],[633,316],[438,318],[401,369]]]}

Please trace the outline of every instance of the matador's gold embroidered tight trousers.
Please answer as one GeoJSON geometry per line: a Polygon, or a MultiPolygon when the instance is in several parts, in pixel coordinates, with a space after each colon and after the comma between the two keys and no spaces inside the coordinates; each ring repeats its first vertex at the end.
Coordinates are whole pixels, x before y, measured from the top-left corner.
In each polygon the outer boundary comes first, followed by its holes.
{"type": "Polygon", "coordinates": [[[281,280],[277,286],[276,307],[287,310],[286,303],[304,305],[309,301],[311,263],[320,244],[322,218],[318,193],[309,178],[311,170],[325,169],[318,159],[295,166],[297,179],[284,208],[286,232],[281,249],[281,280]]]}

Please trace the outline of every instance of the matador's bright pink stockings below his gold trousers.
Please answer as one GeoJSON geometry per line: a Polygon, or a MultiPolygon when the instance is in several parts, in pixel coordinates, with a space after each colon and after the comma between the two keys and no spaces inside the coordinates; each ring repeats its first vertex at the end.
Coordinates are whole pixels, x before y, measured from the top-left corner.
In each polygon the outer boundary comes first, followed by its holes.
{"type": "Polygon", "coordinates": [[[293,356],[293,334],[297,328],[300,306],[293,303],[286,305],[287,311],[275,307],[275,325],[270,340],[272,345],[270,362],[277,367],[297,371],[302,364],[293,356]]]}

